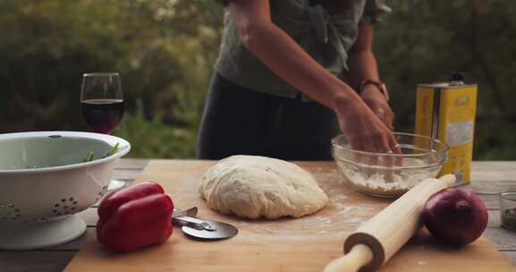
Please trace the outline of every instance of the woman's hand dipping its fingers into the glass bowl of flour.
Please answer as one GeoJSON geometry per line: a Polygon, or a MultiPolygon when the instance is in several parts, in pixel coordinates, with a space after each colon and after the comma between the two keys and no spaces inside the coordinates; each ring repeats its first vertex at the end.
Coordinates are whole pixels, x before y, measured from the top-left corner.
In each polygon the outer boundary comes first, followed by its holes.
{"type": "Polygon", "coordinates": [[[375,153],[402,153],[391,130],[360,98],[334,99],[334,112],[344,137],[351,143],[351,149],[375,153]]]}

